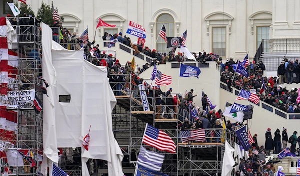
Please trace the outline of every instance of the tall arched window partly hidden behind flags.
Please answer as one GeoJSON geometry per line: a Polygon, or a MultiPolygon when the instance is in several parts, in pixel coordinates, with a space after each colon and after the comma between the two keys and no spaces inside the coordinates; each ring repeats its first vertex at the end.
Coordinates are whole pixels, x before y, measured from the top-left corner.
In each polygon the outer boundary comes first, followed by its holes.
{"type": "Polygon", "coordinates": [[[159,52],[166,52],[168,53],[172,48],[166,48],[166,43],[164,39],[159,36],[159,32],[161,29],[162,24],[164,24],[165,27],[165,35],[168,37],[173,37],[174,36],[174,18],[167,13],[163,13],[159,15],[156,19],[156,50],[159,52]]]}

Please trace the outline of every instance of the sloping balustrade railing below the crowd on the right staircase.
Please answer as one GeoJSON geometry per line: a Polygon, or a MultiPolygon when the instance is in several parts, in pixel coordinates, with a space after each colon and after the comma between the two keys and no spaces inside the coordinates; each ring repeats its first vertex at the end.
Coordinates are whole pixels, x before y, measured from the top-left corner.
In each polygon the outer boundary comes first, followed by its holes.
{"type": "MultiPolygon", "coordinates": [[[[227,88],[227,85],[223,82],[220,81],[220,88],[226,90],[229,92],[228,88],[227,88]]],[[[234,93],[236,96],[237,94],[239,93],[239,90],[238,89],[235,89],[234,87],[231,86],[231,89],[232,89],[232,92],[229,92],[229,93],[234,93]],[[236,94],[237,93],[237,94],[236,94]]],[[[250,101],[249,101],[250,102],[250,101]]],[[[252,102],[250,102],[252,103],[252,102]]],[[[254,104],[254,103],[252,103],[254,104]]],[[[300,113],[288,113],[288,112],[284,112],[284,111],[281,111],[280,109],[270,105],[270,104],[267,104],[265,102],[262,102],[262,101],[259,101],[259,104],[254,104],[256,106],[259,106],[265,110],[268,110],[270,112],[272,112],[273,114],[276,114],[286,120],[300,120],[300,113]],[[268,108],[270,107],[270,108],[268,108]]]]}

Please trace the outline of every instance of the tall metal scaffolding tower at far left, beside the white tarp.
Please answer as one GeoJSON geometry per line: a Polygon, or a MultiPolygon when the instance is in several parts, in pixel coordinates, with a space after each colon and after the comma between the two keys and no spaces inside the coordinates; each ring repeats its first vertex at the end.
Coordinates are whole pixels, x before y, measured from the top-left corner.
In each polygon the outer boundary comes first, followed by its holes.
{"type": "MultiPolygon", "coordinates": [[[[30,17],[11,17],[8,20],[11,21],[12,27],[17,33],[17,42],[12,43],[13,48],[15,48],[12,49],[12,52],[17,53],[17,58],[10,58],[8,62],[17,64],[15,64],[14,68],[8,69],[8,77],[13,79],[8,80],[7,90],[34,89],[35,96],[41,100],[42,80],[39,77],[41,76],[41,35],[40,29],[37,26],[37,20],[30,17]],[[28,24],[20,25],[21,21],[26,21],[28,24]],[[35,25],[29,25],[29,22],[35,25]]],[[[27,153],[27,156],[33,159],[34,164],[28,163],[24,160],[24,157],[20,156],[22,158],[21,161],[23,161],[22,164],[9,166],[9,161],[19,158],[6,155],[6,157],[2,157],[0,160],[1,173],[6,168],[9,172],[12,172],[11,175],[39,175],[39,165],[42,158],[42,112],[36,113],[33,107],[7,108],[5,111],[15,114],[16,126],[11,127],[15,129],[15,137],[10,141],[13,145],[5,146],[2,149],[4,152],[8,152],[9,150],[23,151],[25,152],[25,156],[27,153]]],[[[5,139],[1,140],[5,142],[5,139]]]]}

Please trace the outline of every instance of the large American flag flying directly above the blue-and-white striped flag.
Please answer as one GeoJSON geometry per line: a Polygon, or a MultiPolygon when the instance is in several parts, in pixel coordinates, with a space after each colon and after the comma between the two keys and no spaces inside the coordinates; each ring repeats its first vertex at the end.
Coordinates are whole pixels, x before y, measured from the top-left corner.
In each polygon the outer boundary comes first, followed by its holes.
{"type": "Polygon", "coordinates": [[[148,123],[146,124],[142,143],[169,153],[175,153],[176,150],[174,141],[166,133],[148,125],[148,123]]]}

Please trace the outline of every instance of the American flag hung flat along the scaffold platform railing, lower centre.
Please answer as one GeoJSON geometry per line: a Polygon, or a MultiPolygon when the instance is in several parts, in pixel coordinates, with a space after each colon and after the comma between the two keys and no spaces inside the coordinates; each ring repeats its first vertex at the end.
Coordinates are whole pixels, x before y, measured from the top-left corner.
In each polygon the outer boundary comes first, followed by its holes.
{"type": "Polygon", "coordinates": [[[184,130],[184,131],[180,131],[180,136],[181,136],[182,143],[186,143],[188,141],[204,142],[205,130],[204,129],[184,130]]]}

